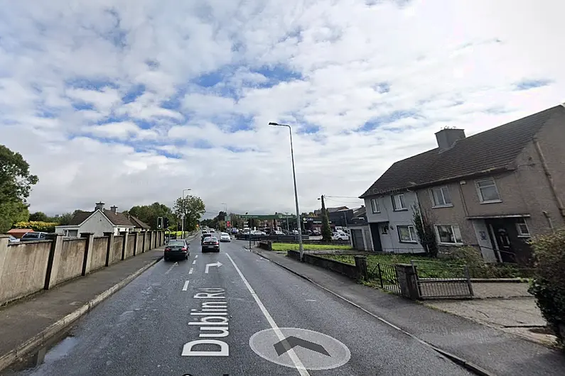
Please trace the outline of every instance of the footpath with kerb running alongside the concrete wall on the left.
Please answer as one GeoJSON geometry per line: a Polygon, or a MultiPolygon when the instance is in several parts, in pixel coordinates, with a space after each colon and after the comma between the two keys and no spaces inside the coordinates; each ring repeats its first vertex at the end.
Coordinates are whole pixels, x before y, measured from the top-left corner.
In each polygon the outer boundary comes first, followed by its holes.
{"type": "Polygon", "coordinates": [[[74,321],[156,264],[163,258],[163,248],[147,250],[1,307],[0,372],[56,338],[74,321]]]}

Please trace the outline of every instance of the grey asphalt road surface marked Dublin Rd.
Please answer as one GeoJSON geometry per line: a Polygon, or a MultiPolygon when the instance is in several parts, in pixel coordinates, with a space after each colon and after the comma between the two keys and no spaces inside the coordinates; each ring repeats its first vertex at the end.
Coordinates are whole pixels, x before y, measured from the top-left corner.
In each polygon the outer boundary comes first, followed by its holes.
{"type": "Polygon", "coordinates": [[[161,260],[15,375],[470,375],[242,248],[161,260]]]}

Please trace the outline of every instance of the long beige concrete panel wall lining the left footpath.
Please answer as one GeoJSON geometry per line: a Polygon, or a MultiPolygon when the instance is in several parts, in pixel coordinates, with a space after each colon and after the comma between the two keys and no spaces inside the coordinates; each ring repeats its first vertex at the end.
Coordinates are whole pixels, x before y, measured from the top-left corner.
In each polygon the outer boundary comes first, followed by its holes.
{"type": "MultiPolygon", "coordinates": [[[[147,237],[149,241],[149,236],[147,237]]],[[[61,282],[82,275],[82,270],[92,272],[104,267],[109,237],[92,239],[90,270],[85,265],[86,238],[40,240],[25,243],[8,243],[0,234],[0,305],[29,294],[49,289],[61,282]],[[53,253],[53,262],[49,261],[53,253]],[[48,272],[50,270],[50,272],[48,272]]],[[[128,249],[133,254],[134,236],[128,239],[128,249]]],[[[122,258],[123,236],[115,236],[110,249],[110,262],[122,258]]],[[[149,243],[147,243],[149,245],[149,243]]],[[[130,251],[129,251],[130,252],[130,251]]]]}

